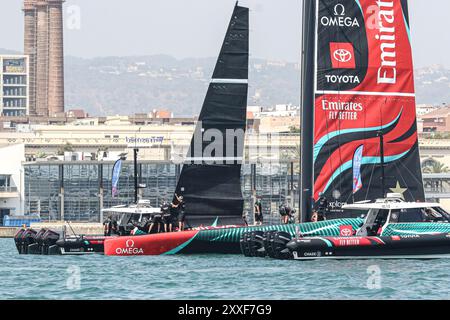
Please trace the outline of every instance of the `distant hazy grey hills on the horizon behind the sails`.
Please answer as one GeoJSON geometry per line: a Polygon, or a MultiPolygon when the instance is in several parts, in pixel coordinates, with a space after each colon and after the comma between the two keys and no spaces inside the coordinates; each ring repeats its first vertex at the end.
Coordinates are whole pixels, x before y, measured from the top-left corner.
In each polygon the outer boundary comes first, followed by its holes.
{"type": "MultiPolygon", "coordinates": [[[[0,54],[19,52],[0,49],[0,54]]],[[[66,57],[66,108],[91,115],[146,113],[170,109],[176,116],[198,114],[216,58],[177,60],[168,55],[66,57]]],[[[415,71],[418,104],[450,103],[450,69],[415,71]]],[[[250,60],[249,105],[300,101],[300,70],[295,63],[250,60]]]]}

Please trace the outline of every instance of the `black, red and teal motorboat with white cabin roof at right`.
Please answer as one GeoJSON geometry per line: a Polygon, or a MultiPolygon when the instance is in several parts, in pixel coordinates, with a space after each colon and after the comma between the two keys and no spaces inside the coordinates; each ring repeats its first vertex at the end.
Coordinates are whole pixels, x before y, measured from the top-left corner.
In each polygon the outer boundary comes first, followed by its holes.
{"type": "Polygon", "coordinates": [[[241,251],[246,256],[295,260],[450,257],[450,214],[439,204],[404,202],[389,195],[344,208],[365,212],[361,227],[341,226],[337,237],[244,234],[241,251]]]}

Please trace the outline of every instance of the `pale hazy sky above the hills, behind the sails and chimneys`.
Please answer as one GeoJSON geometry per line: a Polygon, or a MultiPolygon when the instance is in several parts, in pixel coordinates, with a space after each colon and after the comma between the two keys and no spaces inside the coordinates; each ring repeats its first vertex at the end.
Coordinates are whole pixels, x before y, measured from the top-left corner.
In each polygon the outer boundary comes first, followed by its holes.
{"type": "MultiPolygon", "coordinates": [[[[0,48],[23,49],[23,0],[1,0],[0,48]]],[[[66,0],[65,51],[80,57],[218,54],[235,0],[66,0]]],[[[242,0],[253,57],[298,61],[301,0],[242,0]]],[[[416,67],[450,67],[448,0],[410,0],[416,67]]]]}

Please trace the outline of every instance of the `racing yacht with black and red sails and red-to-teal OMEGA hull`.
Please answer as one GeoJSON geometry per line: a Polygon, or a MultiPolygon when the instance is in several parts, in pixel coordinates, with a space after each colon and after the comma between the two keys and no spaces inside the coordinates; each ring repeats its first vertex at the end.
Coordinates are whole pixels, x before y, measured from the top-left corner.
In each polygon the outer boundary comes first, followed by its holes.
{"type": "Polygon", "coordinates": [[[236,3],[174,192],[192,228],[94,240],[106,255],[259,252],[264,243],[284,254],[299,234],[339,237],[361,228],[365,220],[348,203],[394,190],[424,201],[407,1],[308,0],[303,23],[302,223],[243,226],[249,10],[236,3]],[[330,199],[329,219],[307,222],[320,194],[330,199]]]}

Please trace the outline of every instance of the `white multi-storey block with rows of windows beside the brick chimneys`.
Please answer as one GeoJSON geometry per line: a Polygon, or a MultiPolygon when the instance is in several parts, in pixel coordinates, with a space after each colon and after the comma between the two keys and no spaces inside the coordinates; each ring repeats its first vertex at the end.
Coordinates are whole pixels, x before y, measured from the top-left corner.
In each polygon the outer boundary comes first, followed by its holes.
{"type": "Polygon", "coordinates": [[[29,110],[29,62],[23,55],[0,55],[0,115],[24,116],[29,110]]]}

